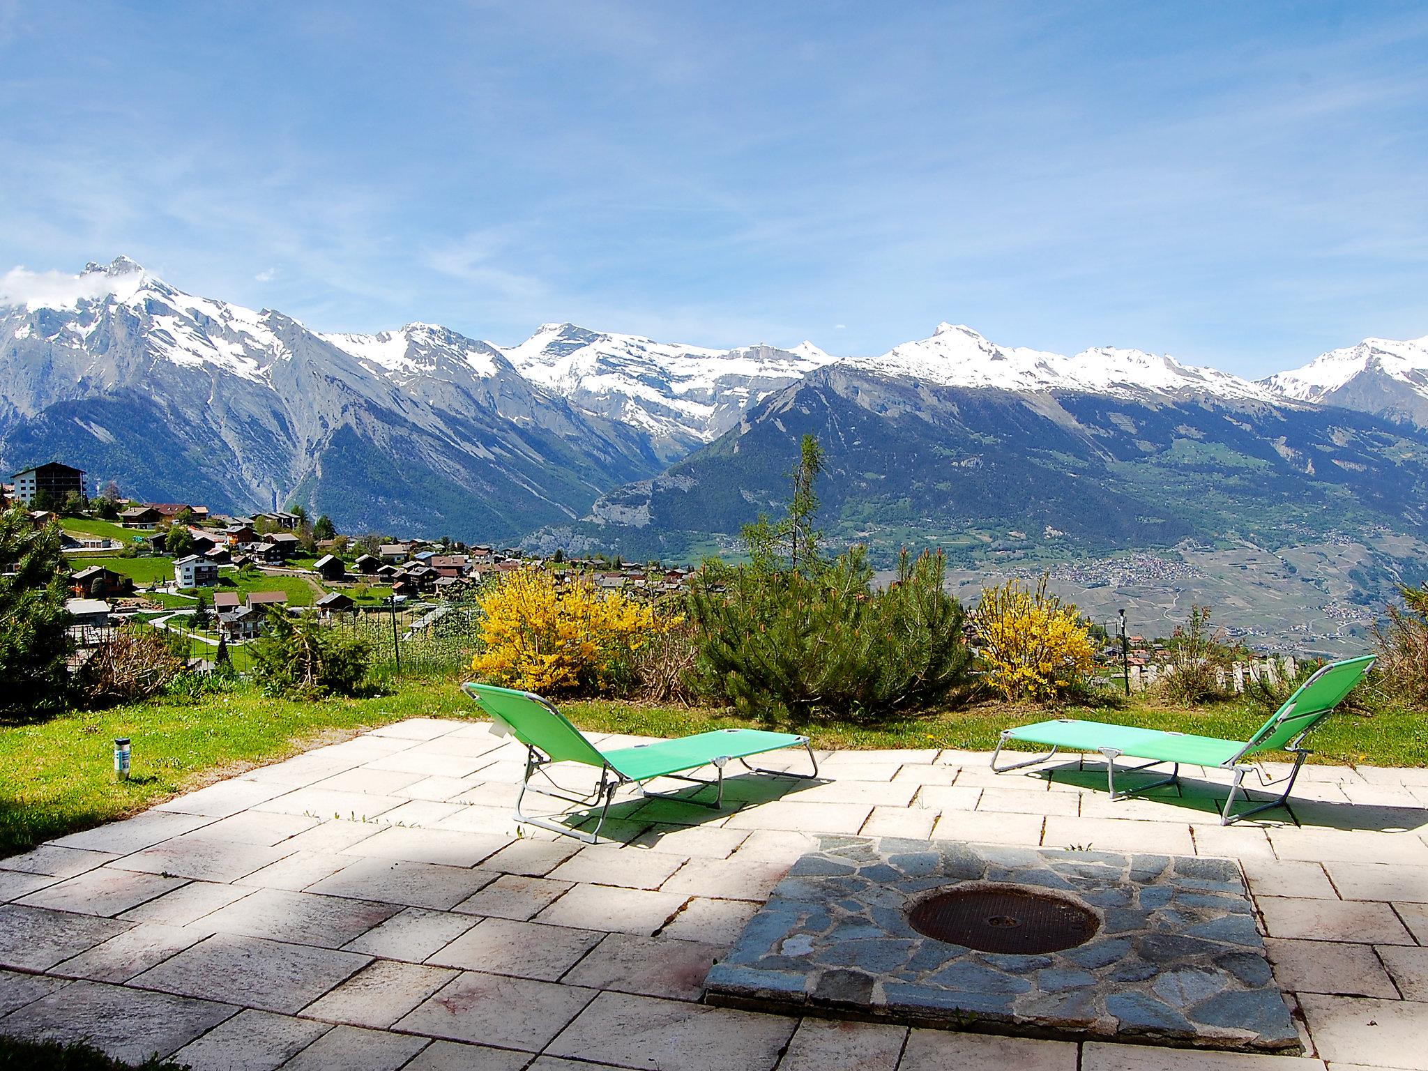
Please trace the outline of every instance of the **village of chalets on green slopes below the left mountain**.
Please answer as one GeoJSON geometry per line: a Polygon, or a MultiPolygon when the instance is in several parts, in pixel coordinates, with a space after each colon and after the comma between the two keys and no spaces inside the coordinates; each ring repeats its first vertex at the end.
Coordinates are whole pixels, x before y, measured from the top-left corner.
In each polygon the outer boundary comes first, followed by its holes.
{"type": "Polygon", "coordinates": [[[313,608],[324,621],[374,613],[410,634],[471,603],[483,583],[526,567],[597,590],[660,598],[688,587],[690,568],[620,558],[551,558],[518,548],[338,533],[324,516],[290,510],[223,516],[201,503],[126,498],[113,484],[91,496],[84,470],[60,461],[0,484],[0,508],[27,507],[37,528],[59,524],[71,598],[74,660],[129,621],[190,638],[191,665],[211,668],[228,645],[263,634],[274,610],[313,608]]]}

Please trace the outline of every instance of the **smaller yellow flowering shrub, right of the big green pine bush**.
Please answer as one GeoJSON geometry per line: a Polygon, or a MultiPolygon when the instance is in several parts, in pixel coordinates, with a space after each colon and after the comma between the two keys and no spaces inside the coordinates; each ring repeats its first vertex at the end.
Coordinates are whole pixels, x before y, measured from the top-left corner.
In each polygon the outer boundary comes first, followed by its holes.
{"type": "Polygon", "coordinates": [[[1074,605],[1008,580],[982,588],[972,617],[988,683],[1008,700],[1051,703],[1091,670],[1095,647],[1074,605]]]}

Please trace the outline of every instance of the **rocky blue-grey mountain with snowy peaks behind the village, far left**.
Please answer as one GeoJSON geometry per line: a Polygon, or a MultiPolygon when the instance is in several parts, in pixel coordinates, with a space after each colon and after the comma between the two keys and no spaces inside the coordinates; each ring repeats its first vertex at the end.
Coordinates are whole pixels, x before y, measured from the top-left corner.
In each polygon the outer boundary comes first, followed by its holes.
{"type": "Polygon", "coordinates": [[[440,327],[318,336],[133,261],[0,308],[0,461],[64,457],[221,510],[296,496],[346,530],[513,540],[658,468],[648,440],[440,327]]]}

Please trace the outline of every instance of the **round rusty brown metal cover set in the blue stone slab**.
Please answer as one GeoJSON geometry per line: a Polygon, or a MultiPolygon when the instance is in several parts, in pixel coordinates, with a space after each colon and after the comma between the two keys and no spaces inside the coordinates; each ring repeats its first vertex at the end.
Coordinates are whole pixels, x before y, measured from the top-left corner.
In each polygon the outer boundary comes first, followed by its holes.
{"type": "Polygon", "coordinates": [[[920,934],[982,952],[1055,952],[1085,944],[1095,914],[1064,897],[1024,888],[952,888],[920,900],[908,911],[920,934]]]}

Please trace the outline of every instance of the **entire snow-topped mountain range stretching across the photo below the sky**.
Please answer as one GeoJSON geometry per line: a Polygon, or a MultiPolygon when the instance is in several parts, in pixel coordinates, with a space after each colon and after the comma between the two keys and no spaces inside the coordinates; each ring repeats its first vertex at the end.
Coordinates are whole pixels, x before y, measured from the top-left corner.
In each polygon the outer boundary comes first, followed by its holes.
{"type": "Polygon", "coordinates": [[[824,527],[877,553],[1428,521],[1428,340],[1369,338],[1254,383],[952,324],[844,358],[573,324],[510,347],[421,323],[318,333],[123,257],[21,291],[0,291],[0,464],[56,457],[149,500],[296,500],[346,531],[685,557],[775,510],[813,433],[824,527]]]}

